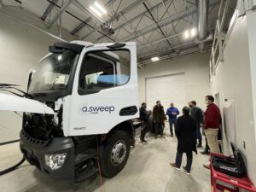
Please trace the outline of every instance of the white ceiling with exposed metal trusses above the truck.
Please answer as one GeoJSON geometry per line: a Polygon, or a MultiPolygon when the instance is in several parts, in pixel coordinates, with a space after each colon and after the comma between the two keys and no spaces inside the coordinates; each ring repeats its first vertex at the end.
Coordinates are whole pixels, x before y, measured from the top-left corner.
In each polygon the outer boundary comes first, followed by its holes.
{"type": "MultiPolygon", "coordinates": [[[[15,0],[3,0],[3,5],[19,6],[40,18],[44,15],[50,1],[53,0],[20,0],[21,3],[17,3],[15,0]]],[[[67,3],[67,0],[56,2],[61,7],[67,3]]],[[[209,9],[208,32],[212,32],[216,25],[220,0],[210,0],[210,3],[212,2],[215,2],[215,6],[209,9]]],[[[195,46],[193,43],[195,39],[183,38],[185,30],[196,26],[196,14],[189,14],[189,10],[195,9],[195,6],[195,0],[73,0],[73,3],[70,3],[66,9],[69,14],[66,11],[61,14],[61,27],[68,32],[73,32],[83,24],[81,21],[86,21],[87,25],[83,25],[77,32],[74,32],[76,35],[74,38],[79,37],[92,43],[122,41],[129,38],[131,41],[137,41],[137,54],[141,57],[148,53],[160,54],[166,49],[174,51],[172,47],[176,47],[175,51],[177,51],[177,49],[189,48],[191,44],[195,46]],[[107,15],[98,18],[90,11],[90,5],[95,1],[108,11],[107,15]],[[107,21],[113,27],[112,35],[102,31],[101,25],[107,21]],[[173,26],[175,26],[175,30],[173,30],[173,26]],[[179,35],[177,36],[176,33],[179,35]],[[169,43],[163,38],[168,38],[169,43]],[[145,46],[143,47],[143,45],[145,46]]],[[[224,29],[229,26],[230,16],[235,8],[236,0],[230,0],[230,9],[224,29]]],[[[45,20],[46,26],[49,26],[56,15],[59,15],[59,11],[60,8],[57,6],[52,9],[45,20]]],[[[59,21],[57,20],[54,26],[59,21]]]]}

